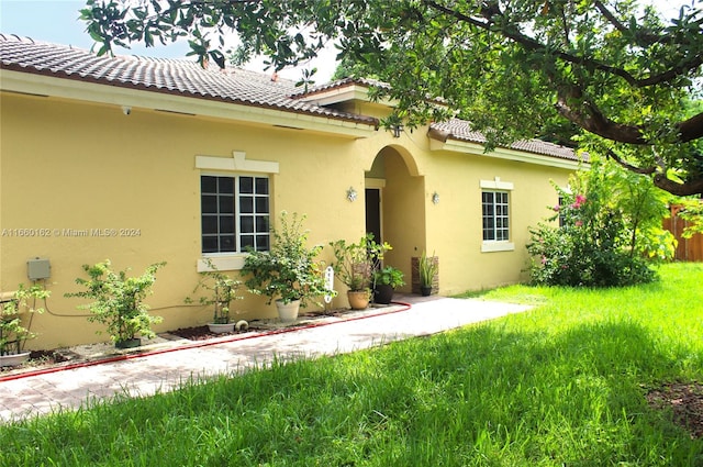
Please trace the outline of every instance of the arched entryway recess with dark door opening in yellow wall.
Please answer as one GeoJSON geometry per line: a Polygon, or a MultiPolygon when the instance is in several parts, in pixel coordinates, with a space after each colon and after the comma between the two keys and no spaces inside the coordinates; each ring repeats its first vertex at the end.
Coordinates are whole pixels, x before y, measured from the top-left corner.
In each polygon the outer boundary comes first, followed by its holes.
{"type": "Polygon", "coordinates": [[[391,244],[383,263],[403,271],[410,291],[412,257],[425,248],[425,180],[401,146],[382,148],[366,173],[366,229],[391,244]]]}

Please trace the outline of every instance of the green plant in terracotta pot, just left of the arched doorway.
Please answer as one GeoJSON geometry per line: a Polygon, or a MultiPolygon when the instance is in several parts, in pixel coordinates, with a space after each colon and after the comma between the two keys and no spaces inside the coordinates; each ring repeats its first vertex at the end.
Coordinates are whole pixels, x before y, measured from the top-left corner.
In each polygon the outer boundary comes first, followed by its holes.
{"type": "Polygon", "coordinates": [[[373,271],[380,267],[383,254],[392,247],[386,242],[376,243],[371,233],[357,243],[338,240],[330,245],[335,257],[332,265],[335,277],[349,289],[349,307],[353,310],[366,309],[371,298],[373,271]]]}

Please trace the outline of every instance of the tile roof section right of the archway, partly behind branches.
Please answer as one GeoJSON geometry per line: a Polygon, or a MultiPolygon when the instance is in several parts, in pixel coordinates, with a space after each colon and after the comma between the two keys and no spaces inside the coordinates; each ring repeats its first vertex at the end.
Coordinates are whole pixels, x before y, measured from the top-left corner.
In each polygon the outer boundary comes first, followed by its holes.
{"type": "MultiPolygon", "coordinates": [[[[486,143],[486,136],[481,133],[472,131],[469,122],[466,120],[453,119],[443,123],[433,123],[431,125],[431,137],[435,140],[446,141],[456,140],[469,143],[486,143]]],[[[554,143],[547,143],[540,140],[517,141],[510,146],[511,149],[523,151],[526,153],[540,154],[545,156],[557,157],[568,160],[580,160],[576,152],[566,146],[554,143]]],[[[587,159],[588,160],[588,159],[587,159]]]]}

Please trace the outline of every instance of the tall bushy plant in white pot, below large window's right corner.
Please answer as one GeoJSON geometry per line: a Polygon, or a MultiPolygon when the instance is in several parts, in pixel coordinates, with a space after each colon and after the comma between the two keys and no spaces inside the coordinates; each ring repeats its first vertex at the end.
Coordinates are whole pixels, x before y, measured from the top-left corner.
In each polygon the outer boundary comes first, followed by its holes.
{"type": "Polygon", "coordinates": [[[268,297],[267,303],[276,301],[281,321],[292,322],[298,319],[300,307],[316,297],[333,294],[325,288],[321,262],[315,258],[322,245],[308,247],[308,231],[302,230],[305,216],[293,213],[289,220],[286,211],[281,212],[280,229],[271,229],[274,243],[268,252],[249,249],[244,260],[242,275],[245,285],[253,293],[268,297]]]}

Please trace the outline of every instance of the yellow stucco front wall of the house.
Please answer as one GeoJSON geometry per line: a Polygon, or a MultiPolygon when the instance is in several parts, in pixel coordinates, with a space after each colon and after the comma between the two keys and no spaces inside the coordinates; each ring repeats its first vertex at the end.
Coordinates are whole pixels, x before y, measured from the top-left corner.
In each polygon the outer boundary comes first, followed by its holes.
{"type": "MultiPolygon", "coordinates": [[[[164,318],[156,331],[204,324],[211,312],[186,307],[198,281],[200,254],[200,174],[196,156],[279,164],[271,176],[272,216],[281,210],[308,215],[312,243],[358,240],[365,232],[365,176],[383,159],[384,237],[394,249],[387,264],[400,267],[410,290],[410,258],[423,249],[440,258],[440,291],[455,293],[520,280],[526,255],[527,224],[546,215],[556,201],[549,178],[565,181],[568,170],[484,156],[431,152],[422,129],[393,138],[380,130],[353,140],[245,125],[119,105],[55,98],[0,94],[0,290],[27,282],[29,258],[48,258],[49,312],[34,318],[37,338],[27,348],[53,348],[96,341],[101,326],[76,309],[80,266],[110,258],[116,269],[141,274],[156,262],[147,302],[164,318]],[[394,145],[393,147],[389,147],[394,145]],[[514,182],[511,193],[514,252],[481,253],[479,181],[514,182]],[[354,187],[360,199],[349,202],[354,187]],[[434,191],[440,202],[433,204],[434,191]],[[97,236],[96,230],[116,230],[97,236]],[[123,232],[126,236],[120,236],[123,232]]],[[[328,262],[330,251],[324,258],[328,262]]],[[[245,293],[237,302],[243,319],[271,318],[272,305],[245,293]]],[[[333,307],[345,307],[336,298],[333,307]]]]}

